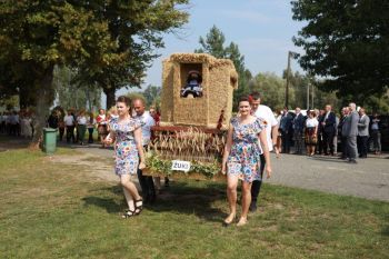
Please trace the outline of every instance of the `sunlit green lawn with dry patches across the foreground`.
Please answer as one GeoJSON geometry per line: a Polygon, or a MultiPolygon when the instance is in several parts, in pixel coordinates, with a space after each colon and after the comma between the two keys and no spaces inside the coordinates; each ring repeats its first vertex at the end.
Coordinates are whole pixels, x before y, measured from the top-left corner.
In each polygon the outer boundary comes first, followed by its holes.
{"type": "Polygon", "coordinates": [[[389,255],[389,203],[380,201],[266,185],[249,223],[223,228],[225,185],[178,181],[141,216],[122,220],[118,186],[23,149],[0,152],[0,258],[389,255]]]}

